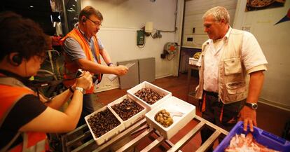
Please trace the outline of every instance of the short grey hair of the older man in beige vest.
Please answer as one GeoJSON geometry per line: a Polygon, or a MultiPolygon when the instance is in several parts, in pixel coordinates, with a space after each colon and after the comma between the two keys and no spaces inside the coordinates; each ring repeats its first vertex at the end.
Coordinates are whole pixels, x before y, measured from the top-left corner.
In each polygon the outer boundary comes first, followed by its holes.
{"type": "Polygon", "coordinates": [[[202,19],[205,20],[209,15],[212,15],[216,21],[221,21],[224,19],[226,23],[230,22],[230,14],[228,10],[222,6],[216,6],[214,8],[210,8],[205,14],[202,16],[202,19]]]}

